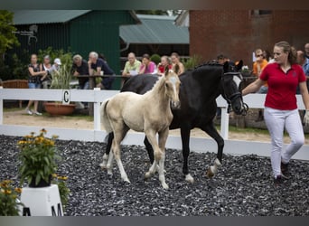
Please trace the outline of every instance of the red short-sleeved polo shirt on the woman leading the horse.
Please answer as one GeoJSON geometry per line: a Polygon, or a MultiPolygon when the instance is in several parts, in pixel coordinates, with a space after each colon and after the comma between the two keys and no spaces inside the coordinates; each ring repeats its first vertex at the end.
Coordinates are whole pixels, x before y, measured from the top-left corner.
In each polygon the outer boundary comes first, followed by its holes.
{"type": "Polygon", "coordinates": [[[259,78],[268,83],[265,107],[281,110],[297,108],[296,88],[299,82],[306,80],[301,66],[293,64],[285,73],[276,62],[269,63],[259,78]]]}

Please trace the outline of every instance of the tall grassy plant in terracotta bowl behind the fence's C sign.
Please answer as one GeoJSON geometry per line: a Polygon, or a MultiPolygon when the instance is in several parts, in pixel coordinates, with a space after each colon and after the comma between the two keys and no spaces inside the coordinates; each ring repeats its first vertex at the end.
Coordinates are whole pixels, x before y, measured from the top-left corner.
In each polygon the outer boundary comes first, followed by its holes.
{"type": "MultiPolygon", "coordinates": [[[[71,80],[70,63],[63,63],[59,71],[52,71],[51,89],[70,89],[71,80]]],[[[45,102],[45,111],[52,116],[70,115],[75,109],[75,104],[62,104],[61,102],[45,102]]]]}

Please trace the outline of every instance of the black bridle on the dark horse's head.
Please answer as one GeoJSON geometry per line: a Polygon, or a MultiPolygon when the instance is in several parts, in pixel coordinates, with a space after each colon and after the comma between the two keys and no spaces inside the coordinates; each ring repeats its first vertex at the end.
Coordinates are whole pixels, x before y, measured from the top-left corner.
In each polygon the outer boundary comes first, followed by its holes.
{"type": "Polygon", "coordinates": [[[242,100],[242,95],[241,95],[241,92],[237,91],[233,94],[231,94],[229,97],[226,95],[225,93],[225,90],[224,90],[224,77],[226,76],[238,76],[239,79],[242,81],[243,78],[242,78],[242,75],[240,72],[225,72],[222,74],[221,76],[221,82],[222,82],[222,87],[223,87],[223,98],[227,100],[228,102],[228,113],[232,111],[232,102],[235,100],[235,99],[241,99],[241,115],[242,116],[246,116],[247,115],[247,112],[248,112],[248,105],[246,103],[243,102],[242,100]]]}

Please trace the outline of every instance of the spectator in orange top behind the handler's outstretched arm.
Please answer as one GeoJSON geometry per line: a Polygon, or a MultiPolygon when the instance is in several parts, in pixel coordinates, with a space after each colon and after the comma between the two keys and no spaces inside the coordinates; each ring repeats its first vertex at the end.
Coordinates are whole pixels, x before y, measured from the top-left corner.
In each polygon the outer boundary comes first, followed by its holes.
{"type": "MultiPolygon", "coordinates": [[[[259,78],[259,75],[261,74],[261,72],[263,71],[263,69],[267,66],[267,60],[264,59],[264,54],[262,52],[261,49],[257,49],[255,51],[255,56],[256,56],[256,61],[253,63],[253,71],[252,74],[254,74],[255,76],[257,76],[257,78],[259,78]]],[[[267,93],[267,82],[261,86],[261,88],[257,91],[257,93],[267,93]]],[[[257,115],[257,119],[256,122],[258,121],[263,121],[264,117],[263,117],[263,110],[262,109],[258,109],[258,115],[257,115]]]]}

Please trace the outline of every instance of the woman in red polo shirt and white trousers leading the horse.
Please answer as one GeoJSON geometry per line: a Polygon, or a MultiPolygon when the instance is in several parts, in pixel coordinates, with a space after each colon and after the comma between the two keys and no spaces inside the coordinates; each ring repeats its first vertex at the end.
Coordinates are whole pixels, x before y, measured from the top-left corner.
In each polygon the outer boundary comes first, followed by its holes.
{"type": "Polygon", "coordinates": [[[267,64],[259,79],[242,90],[242,95],[256,92],[266,82],[264,119],[271,136],[271,165],[275,184],[281,184],[288,175],[288,163],[304,145],[304,129],[296,105],[296,88],[299,84],[306,108],[304,123],[309,124],[309,94],[304,71],[296,63],[295,48],[288,42],[277,42],[274,47],[275,63],[267,64]],[[283,150],[284,129],[291,144],[283,150]]]}

